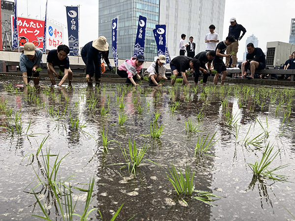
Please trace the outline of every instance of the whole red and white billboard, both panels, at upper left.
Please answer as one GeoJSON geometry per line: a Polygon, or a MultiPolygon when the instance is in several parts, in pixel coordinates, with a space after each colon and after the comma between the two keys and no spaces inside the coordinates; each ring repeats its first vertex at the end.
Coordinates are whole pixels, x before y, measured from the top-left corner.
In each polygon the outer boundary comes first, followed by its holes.
{"type": "MultiPolygon", "coordinates": [[[[13,26],[14,17],[11,16],[13,26]]],[[[44,21],[38,19],[18,17],[19,46],[23,47],[27,42],[33,43],[36,48],[43,49],[44,21]]],[[[11,28],[13,30],[13,27],[11,28]]],[[[63,43],[63,28],[47,22],[46,49],[56,49],[63,43]]]]}

